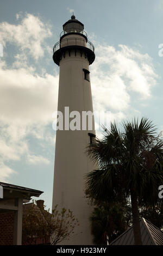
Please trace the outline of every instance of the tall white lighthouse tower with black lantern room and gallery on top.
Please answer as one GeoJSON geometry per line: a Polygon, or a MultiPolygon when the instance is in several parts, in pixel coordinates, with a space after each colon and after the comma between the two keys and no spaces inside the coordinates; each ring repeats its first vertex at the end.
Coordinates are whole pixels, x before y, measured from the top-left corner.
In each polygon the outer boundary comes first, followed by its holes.
{"type": "Polygon", "coordinates": [[[97,168],[86,154],[87,145],[95,137],[95,123],[93,117],[90,130],[82,127],[82,112],[93,113],[89,65],[95,60],[95,49],[87,40],[83,23],[74,15],[63,25],[63,29],[60,41],[53,48],[54,63],[60,67],[58,111],[63,115],[66,115],[65,107],[69,107],[70,113],[78,111],[81,126],[80,130],[68,130],[65,117],[64,129],[57,130],[53,208],[58,204],[59,208],[70,209],[79,221],[74,235],[64,241],[64,245],[92,245],[91,206],[85,198],[84,175],[97,168]]]}

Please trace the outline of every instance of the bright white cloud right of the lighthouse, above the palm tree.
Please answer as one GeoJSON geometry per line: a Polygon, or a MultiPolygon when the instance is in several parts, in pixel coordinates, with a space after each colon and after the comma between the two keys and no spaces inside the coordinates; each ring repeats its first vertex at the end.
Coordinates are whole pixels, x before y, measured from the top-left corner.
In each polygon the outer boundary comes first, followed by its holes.
{"type": "Polygon", "coordinates": [[[140,100],[151,97],[158,77],[152,58],[126,45],[97,45],[95,64],[91,67],[95,110],[124,112],[131,106],[131,92],[140,100]],[[135,94],[136,95],[136,94],[135,94]]]}

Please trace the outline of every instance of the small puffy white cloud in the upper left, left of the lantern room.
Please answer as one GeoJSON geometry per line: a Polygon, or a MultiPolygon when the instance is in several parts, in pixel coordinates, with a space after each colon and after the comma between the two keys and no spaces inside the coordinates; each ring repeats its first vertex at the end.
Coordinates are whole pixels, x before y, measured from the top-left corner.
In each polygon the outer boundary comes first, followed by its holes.
{"type": "Polygon", "coordinates": [[[26,13],[25,17],[17,14],[16,19],[22,18],[18,25],[8,22],[0,23],[0,41],[5,46],[7,42],[28,50],[35,59],[43,57],[45,51],[44,41],[52,35],[50,25],[43,23],[39,17],[26,13]]]}

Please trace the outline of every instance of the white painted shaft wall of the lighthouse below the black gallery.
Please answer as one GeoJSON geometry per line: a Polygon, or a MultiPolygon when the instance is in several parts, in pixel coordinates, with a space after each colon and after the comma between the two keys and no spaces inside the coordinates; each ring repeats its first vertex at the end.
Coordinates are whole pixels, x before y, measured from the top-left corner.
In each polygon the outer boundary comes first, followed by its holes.
{"type": "MultiPolygon", "coordinates": [[[[71,111],[92,111],[91,84],[84,80],[84,69],[89,70],[89,62],[80,52],[74,56],[68,52],[60,61],[58,110],[64,113],[64,107],[71,111]]],[[[89,217],[91,207],[84,194],[84,175],[97,168],[93,166],[85,150],[90,142],[88,132],[95,133],[93,120],[92,131],[57,131],[55,145],[53,208],[56,204],[73,211],[79,220],[79,227],[74,230],[70,240],[63,245],[92,245],[89,217]]]]}

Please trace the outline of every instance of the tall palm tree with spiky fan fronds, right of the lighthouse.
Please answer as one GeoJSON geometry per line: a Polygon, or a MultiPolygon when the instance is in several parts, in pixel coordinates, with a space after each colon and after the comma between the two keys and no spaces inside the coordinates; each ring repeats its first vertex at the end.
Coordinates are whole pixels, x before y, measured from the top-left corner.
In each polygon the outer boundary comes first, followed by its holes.
{"type": "Polygon", "coordinates": [[[104,138],[87,147],[99,169],[86,174],[87,197],[96,202],[130,200],[135,245],[141,245],[139,202],[159,204],[158,187],[163,184],[163,142],[152,121],[142,118],[122,123],[122,131],[111,123],[104,138]]]}

